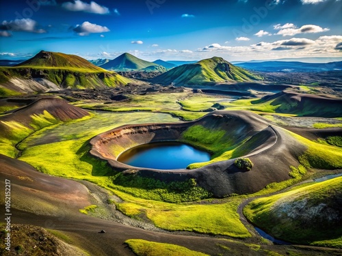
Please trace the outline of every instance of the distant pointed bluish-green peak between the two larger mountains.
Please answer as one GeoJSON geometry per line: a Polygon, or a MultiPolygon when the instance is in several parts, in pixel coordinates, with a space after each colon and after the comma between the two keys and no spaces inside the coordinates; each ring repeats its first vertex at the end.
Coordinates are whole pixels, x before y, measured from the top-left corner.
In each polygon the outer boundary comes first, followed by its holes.
{"type": "Polygon", "coordinates": [[[103,64],[101,68],[105,68],[106,70],[114,70],[114,71],[161,71],[165,72],[166,68],[160,66],[156,63],[150,61],[144,61],[143,59],[139,59],[129,53],[124,53],[116,59],[108,61],[103,64]]]}

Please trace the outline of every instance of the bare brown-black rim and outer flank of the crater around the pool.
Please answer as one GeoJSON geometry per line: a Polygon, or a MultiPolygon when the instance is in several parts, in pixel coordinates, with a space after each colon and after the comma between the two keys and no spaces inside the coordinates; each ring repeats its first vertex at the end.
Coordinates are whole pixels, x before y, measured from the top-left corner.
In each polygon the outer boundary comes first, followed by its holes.
{"type": "Polygon", "coordinates": [[[196,178],[198,184],[209,190],[215,197],[224,197],[233,193],[254,193],[272,182],[288,180],[289,167],[298,166],[298,156],[305,150],[289,133],[269,123],[259,115],[247,111],[215,111],[194,122],[181,124],[144,124],[121,126],[104,132],[90,141],[94,156],[107,160],[116,170],[127,174],[154,177],[159,180],[180,181],[196,178]],[[194,170],[160,171],[124,165],[116,160],[112,148],[118,145],[122,151],[134,145],[154,141],[176,141],[187,128],[201,125],[208,129],[222,129],[226,136],[236,142],[252,137],[248,143],[249,157],[254,163],[252,171],[242,171],[234,165],[234,160],[215,162],[194,170]]]}

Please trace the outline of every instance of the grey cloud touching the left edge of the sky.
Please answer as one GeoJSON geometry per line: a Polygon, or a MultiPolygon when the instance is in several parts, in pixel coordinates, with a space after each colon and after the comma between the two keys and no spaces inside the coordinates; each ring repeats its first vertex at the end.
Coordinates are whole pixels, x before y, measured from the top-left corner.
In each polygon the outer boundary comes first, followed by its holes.
{"type": "Polygon", "coordinates": [[[16,20],[3,20],[0,24],[0,30],[5,31],[24,31],[31,33],[47,33],[44,29],[37,29],[38,23],[31,18],[22,18],[16,20]]]}

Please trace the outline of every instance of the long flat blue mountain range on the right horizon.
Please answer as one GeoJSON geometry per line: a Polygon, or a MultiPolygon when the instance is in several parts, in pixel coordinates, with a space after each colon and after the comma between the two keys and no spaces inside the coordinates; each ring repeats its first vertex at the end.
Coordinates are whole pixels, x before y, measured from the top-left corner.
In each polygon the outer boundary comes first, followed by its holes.
{"type": "Polygon", "coordinates": [[[236,66],[262,72],[324,72],[342,70],[342,61],[305,63],[300,61],[262,61],[236,63],[236,66]]]}

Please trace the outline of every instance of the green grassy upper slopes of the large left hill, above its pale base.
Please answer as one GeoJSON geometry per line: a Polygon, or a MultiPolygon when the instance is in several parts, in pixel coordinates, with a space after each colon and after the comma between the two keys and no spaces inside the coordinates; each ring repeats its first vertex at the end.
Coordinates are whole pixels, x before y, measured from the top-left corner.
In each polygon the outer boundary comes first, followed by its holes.
{"type": "Polygon", "coordinates": [[[76,55],[44,51],[15,67],[0,68],[0,83],[10,81],[12,76],[19,79],[44,78],[62,88],[79,89],[116,87],[131,82],[76,55]]]}

